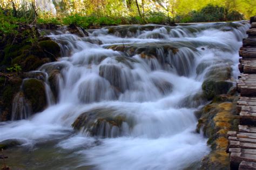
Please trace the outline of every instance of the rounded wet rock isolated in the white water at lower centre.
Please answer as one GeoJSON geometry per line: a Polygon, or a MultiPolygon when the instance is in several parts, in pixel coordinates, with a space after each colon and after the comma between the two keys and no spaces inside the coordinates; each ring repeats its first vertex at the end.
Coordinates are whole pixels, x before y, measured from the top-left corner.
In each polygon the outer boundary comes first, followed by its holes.
{"type": "Polygon", "coordinates": [[[81,114],[72,124],[75,130],[98,137],[118,137],[127,133],[133,122],[122,112],[111,108],[93,109],[81,114]],[[126,126],[125,126],[126,125],[126,126]]]}

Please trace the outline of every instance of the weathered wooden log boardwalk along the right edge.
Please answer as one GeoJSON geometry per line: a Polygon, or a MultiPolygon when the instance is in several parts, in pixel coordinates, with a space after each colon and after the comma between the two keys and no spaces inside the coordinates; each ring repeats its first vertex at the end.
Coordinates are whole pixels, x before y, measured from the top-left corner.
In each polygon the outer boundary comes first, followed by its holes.
{"type": "Polygon", "coordinates": [[[230,153],[231,169],[256,169],[256,16],[251,17],[248,38],[240,48],[237,104],[240,125],[238,132],[228,132],[227,152],[230,153]]]}

